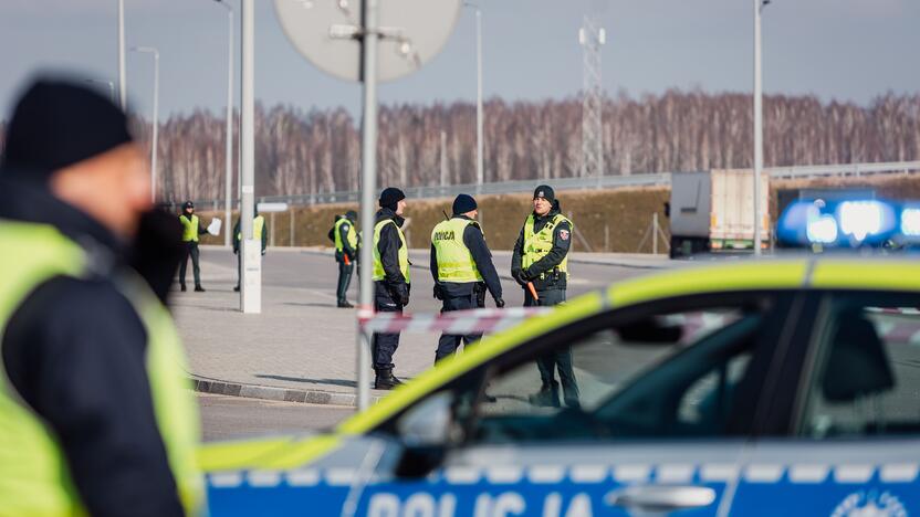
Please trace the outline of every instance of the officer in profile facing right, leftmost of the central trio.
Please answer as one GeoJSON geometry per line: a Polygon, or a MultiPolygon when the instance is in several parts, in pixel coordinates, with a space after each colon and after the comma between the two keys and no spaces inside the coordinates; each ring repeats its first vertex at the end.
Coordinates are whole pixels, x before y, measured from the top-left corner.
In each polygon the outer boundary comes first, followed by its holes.
{"type": "MultiPolygon", "coordinates": [[[[380,210],[374,224],[374,309],[402,313],[409,304],[409,247],[402,235],[406,194],[389,187],[380,192],[380,210]]],[[[374,388],[391,390],[402,382],[393,374],[393,355],[399,334],[375,334],[373,340],[374,388]]]]}

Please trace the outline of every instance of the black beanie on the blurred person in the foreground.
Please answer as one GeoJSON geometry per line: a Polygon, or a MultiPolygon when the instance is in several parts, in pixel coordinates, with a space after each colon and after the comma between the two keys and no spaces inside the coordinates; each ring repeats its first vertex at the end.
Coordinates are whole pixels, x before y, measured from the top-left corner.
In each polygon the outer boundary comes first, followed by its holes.
{"type": "Polygon", "coordinates": [[[111,101],[73,82],[38,80],[13,109],[0,167],[44,181],[129,141],[127,117],[111,101]]]}

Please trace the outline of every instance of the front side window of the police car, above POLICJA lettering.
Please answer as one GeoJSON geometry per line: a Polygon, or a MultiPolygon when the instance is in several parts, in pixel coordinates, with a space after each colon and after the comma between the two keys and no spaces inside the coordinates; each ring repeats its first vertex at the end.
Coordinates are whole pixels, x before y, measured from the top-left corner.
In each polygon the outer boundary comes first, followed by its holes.
{"type": "MultiPolygon", "coordinates": [[[[572,330],[493,374],[470,439],[511,441],[690,437],[731,434],[772,302],[687,310],[610,313],[600,328],[572,330]],[[566,379],[571,354],[574,386],[566,379]],[[558,386],[541,380],[553,360],[558,386]]],[[[602,318],[603,319],[603,318],[602,318]]],[[[597,325],[595,325],[597,327],[597,325]]],[[[749,404],[752,403],[749,401],[749,404]]]]}

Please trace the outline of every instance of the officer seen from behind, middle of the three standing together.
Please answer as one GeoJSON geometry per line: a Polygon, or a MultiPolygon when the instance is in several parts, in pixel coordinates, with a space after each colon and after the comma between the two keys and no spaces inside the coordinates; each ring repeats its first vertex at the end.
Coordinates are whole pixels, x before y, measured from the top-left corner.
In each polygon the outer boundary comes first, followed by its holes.
{"type": "MultiPolygon", "coordinates": [[[[502,283],[475,221],[478,213],[475,199],[460,194],[453,200],[453,217],[431,231],[431,276],[435,297],[443,302],[442,313],[484,307],[487,288],[495,306],[504,307],[502,283]]],[[[451,356],[461,340],[470,345],[481,338],[481,334],[445,334],[438,340],[435,361],[451,356]]]]}

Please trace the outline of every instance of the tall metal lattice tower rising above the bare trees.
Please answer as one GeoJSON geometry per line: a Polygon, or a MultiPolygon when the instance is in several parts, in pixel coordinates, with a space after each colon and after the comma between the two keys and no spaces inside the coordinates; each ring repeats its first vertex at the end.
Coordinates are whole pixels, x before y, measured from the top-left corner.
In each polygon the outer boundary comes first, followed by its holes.
{"type": "Polygon", "coordinates": [[[578,31],[584,65],[582,86],[582,176],[604,176],[604,87],[600,83],[600,48],[607,40],[596,20],[585,15],[578,31]]]}

